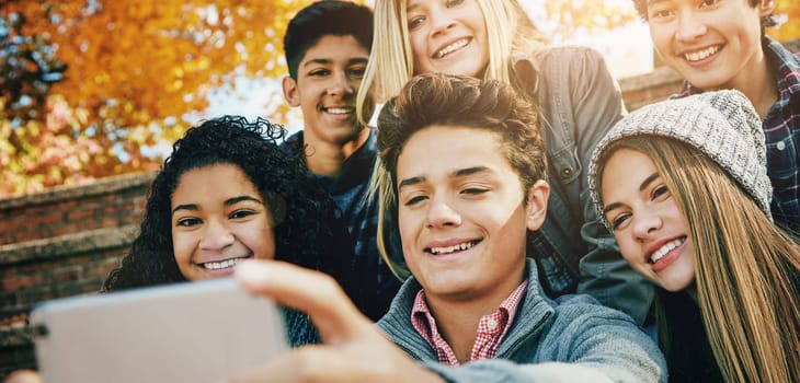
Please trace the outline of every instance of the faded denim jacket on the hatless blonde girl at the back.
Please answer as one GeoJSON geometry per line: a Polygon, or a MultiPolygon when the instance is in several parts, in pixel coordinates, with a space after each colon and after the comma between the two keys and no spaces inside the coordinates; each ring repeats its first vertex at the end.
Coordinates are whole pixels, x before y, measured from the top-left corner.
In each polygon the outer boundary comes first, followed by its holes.
{"type": "Polygon", "coordinates": [[[586,179],[594,147],[627,113],[619,85],[599,53],[586,47],[550,47],[516,58],[515,72],[538,101],[547,139],[547,219],[529,233],[527,246],[545,291],[588,293],[642,325],[654,289],[628,266],[597,220],[586,179]]]}

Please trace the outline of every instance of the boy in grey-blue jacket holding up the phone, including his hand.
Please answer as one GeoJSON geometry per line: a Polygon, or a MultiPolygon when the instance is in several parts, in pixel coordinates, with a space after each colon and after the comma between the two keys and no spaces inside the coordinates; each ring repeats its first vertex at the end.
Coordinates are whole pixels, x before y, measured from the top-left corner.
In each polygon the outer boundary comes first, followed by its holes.
{"type": "Polygon", "coordinates": [[[588,295],[545,294],[526,257],[527,231],[547,216],[545,139],[511,85],[419,76],[378,126],[391,179],[381,210],[397,218],[381,231],[400,236],[412,274],[378,322],[385,337],[330,278],[245,263],[240,282],[308,312],[327,345],[242,382],[666,382],[662,353],[628,315],[588,295]]]}

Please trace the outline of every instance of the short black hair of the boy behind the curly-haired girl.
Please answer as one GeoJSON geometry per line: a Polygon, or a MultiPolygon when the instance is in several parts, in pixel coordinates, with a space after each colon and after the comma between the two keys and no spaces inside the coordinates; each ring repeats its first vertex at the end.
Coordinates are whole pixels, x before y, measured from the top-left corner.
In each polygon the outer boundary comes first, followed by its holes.
{"type": "Polygon", "coordinates": [[[284,34],[284,53],[289,76],[297,80],[297,66],[306,51],[324,36],[353,36],[364,48],[373,46],[373,11],[350,1],[315,2],[289,21],[284,34]]]}

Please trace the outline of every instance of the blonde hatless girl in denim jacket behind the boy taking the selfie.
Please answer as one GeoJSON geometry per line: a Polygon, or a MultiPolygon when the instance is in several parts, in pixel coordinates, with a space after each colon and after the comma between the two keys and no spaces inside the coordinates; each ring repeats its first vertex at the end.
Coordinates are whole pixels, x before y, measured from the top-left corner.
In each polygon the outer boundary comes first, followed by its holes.
{"type": "MultiPolygon", "coordinates": [[[[548,147],[552,193],[546,224],[530,233],[528,254],[539,264],[550,297],[587,292],[642,324],[652,287],[619,256],[588,198],[588,154],[626,113],[602,56],[583,47],[545,47],[515,0],[377,0],[375,36],[357,105],[368,111],[370,92],[386,101],[414,74],[445,72],[495,79],[514,85],[538,105],[548,147]],[[579,285],[580,282],[580,285],[579,285]]],[[[380,127],[378,127],[380,129],[380,127]]],[[[377,179],[377,181],[376,181],[377,179]]],[[[397,211],[378,173],[385,199],[379,247],[399,260],[397,211]]],[[[391,263],[390,263],[391,264],[391,263]]],[[[400,265],[395,271],[408,276],[400,265]]]]}

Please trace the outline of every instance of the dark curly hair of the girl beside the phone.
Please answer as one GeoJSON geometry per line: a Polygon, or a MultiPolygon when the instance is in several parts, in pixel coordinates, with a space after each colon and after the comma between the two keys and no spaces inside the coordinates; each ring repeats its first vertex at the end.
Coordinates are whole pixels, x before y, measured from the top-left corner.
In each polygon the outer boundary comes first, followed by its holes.
{"type": "MultiPolygon", "coordinates": [[[[150,187],[138,237],[103,291],[185,281],[172,251],[171,197],[185,172],[219,163],[239,166],[276,220],[275,258],[348,280],[354,257],[339,251],[335,205],[302,160],[278,149],[286,130],[259,118],[225,116],[191,128],[172,147],[150,187]]],[[[224,187],[224,185],[220,185],[224,187]]]]}

